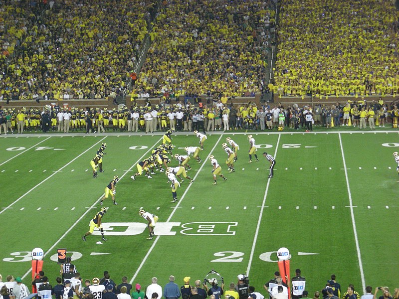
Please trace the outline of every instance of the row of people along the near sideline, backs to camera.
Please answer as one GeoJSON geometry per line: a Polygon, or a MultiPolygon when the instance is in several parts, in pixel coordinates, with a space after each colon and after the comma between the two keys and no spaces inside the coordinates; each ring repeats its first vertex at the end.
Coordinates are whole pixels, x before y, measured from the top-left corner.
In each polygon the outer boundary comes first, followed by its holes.
{"type": "MultiPolygon", "coordinates": [[[[61,265],[71,265],[69,272],[63,272],[62,278],[56,278],[54,287],[43,271],[35,274],[31,286],[33,293],[38,293],[39,298],[52,299],[292,299],[311,298],[306,290],[306,279],[301,276],[300,269],[295,270],[295,276],[291,281],[282,279],[280,273],[276,271],[274,277],[267,281],[261,290],[249,284],[248,277],[240,274],[236,282],[231,282],[228,287],[224,285],[223,279],[217,274],[217,278],[206,278],[203,280],[192,280],[191,277],[183,278],[181,286],[175,282],[175,276],[169,277],[169,282],[164,286],[158,284],[158,278],[153,277],[151,283],[146,287],[136,283],[133,287],[128,283],[128,278],[124,276],[120,284],[116,284],[108,271],[104,271],[104,276],[92,280],[83,280],[76,267],[70,263],[61,265]],[[221,279],[220,279],[221,278],[221,279]],[[295,288],[297,287],[297,288],[295,288]],[[263,294],[264,295],[263,295],[263,294]]],[[[69,266],[68,266],[69,267],[69,266]]],[[[143,285],[145,286],[145,285],[143,285]]],[[[24,299],[29,296],[29,287],[22,283],[21,277],[8,275],[6,281],[2,282],[0,275],[0,296],[1,299],[24,299]]],[[[313,299],[399,299],[399,289],[390,292],[389,287],[367,286],[364,295],[355,290],[354,285],[350,284],[347,289],[342,288],[337,282],[335,274],[327,280],[327,284],[320,286],[320,291],[314,292],[313,299]]]]}

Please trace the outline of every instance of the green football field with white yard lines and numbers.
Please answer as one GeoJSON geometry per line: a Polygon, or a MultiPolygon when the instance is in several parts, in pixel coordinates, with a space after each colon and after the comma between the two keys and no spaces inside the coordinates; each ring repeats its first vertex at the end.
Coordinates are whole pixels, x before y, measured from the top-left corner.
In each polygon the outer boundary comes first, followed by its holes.
{"type": "MultiPolygon", "coordinates": [[[[23,276],[30,285],[30,251],[44,250],[45,274],[55,284],[57,249],[66,248],[83,279],[109,271],[117,284],[164,286],[170,275],[178,285],[190,276],[203,280],[211,270],[226,283],[245,272],[250,285],[262,286],[278,271],[276,251],[291,253],[291,276],[300,268],[309,295],[336,274],[343,292],[349,284],[363,294],[366,285],[388,286],[399,279],[399,180],[392,157],[399,151],[394,132],[253,133],[259,162],[248,163],[248,134],[207,135],[201,163],[193,158],[171,203],[170,183],[156,171],[133,181],[136,164],[162,143],[159,135],[24,135],[0,139],[0,274],[23,276]],[[228,173],[221,145],[226,137],[239,146],[235,172],[228,173]],[[105,172],[92,178],[90,160],[101,143],[105,172]],[[268,179],[268,161],[276,158],[268,179]],[[212,154],[227,177],[212,185],[212,154]],[[104,201],[105,237],[81,237],[114,175],[116,201],[104,201]],[[138,214],[159,217],[156,237],[138,214]]],[[[193,134],[174,134],[173,154],[198,146],[193,134]]],[[[178,166],[172,158],[170,166],[178,166]]],[[[3,279],[4,281],[4,279],[3,279]]],[[[144,288],[144,287],[143,287],[144,288]]]]}

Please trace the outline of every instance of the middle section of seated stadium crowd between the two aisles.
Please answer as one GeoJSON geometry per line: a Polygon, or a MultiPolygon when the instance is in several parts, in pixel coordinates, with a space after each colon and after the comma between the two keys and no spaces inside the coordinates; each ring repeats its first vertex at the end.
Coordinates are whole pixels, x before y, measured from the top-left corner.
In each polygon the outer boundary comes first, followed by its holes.
{"type": "Polygon", "coordinates": [[[164,1],[132,96],[259,92],[274,22],[270,0],[164,1]]]}

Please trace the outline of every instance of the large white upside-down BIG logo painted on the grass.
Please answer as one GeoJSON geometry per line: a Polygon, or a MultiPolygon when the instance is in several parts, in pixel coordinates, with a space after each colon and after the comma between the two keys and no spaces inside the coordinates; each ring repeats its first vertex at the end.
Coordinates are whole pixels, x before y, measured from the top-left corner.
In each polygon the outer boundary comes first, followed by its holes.
{"type": "MultiPolygon", "coordinates": [[[[158,222],[154,233],[158,236],[182,235],[197,236],[232,236],[237,222],[158,222]]],[[[107,236],[134,236],[147,232],[147,224],[142,222],[107,222],[102,223],[107,236]]],[[[99,236],[98,230],[93,235],[99,236]]]]}

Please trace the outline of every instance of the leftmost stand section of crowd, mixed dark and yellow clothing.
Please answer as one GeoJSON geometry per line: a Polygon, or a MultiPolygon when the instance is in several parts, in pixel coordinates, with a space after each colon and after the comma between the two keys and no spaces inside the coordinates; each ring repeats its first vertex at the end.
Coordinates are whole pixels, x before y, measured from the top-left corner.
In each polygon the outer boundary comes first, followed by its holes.
{"type": "Polygon", "coordinates": [[[42,17],[26,4],[32,2],[7,1],[0,8],[0,99],[122,93],[155,0],[51,1],[42,17]]]}

